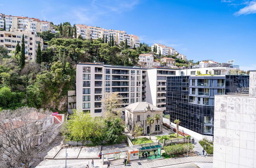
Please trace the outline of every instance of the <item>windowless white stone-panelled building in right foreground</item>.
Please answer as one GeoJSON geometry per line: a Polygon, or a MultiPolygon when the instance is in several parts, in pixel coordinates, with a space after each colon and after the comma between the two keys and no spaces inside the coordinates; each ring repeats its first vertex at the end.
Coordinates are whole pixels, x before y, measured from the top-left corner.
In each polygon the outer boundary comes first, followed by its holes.
{"type": "Polygon", "coordinates": [[[214,167],[256,167],[256,71],[249,94],[215,96],[214,167]]]}

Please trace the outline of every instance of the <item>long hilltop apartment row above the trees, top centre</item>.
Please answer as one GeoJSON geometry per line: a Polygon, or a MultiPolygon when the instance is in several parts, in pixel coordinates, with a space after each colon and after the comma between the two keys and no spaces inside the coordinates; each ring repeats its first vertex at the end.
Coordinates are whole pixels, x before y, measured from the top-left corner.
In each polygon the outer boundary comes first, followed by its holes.
{"type": "Polygon", "coordinates": [[[88,26],[83,24],[76,24],[77,37],[81,35],[84,39],[106,39],[110,41],[110,38],[113,36],[117,44],[120,42],[125,42],[127,40],[127,45],[131,47],[138,47],[140,44],[140,39],[138,36],[129,35],[124,31],[118,30],[106,30],[101,27],[88,26]]]}

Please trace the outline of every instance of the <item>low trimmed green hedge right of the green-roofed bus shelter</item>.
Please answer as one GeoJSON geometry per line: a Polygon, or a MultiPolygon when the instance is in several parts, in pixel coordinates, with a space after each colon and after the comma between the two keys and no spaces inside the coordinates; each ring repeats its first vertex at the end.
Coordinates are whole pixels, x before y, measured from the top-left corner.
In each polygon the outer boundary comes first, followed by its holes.
{"type": "MultiPolygon", "coordinates": [[[[188,151],[193,150],[194,145],[189,144],[188,145],[188,151]]],[[[170,145],[163,147],[165,153],[169,156],[172,155],[183,155],[187,152],[187,144],[177,144],[177,145],[170,145]]]]}

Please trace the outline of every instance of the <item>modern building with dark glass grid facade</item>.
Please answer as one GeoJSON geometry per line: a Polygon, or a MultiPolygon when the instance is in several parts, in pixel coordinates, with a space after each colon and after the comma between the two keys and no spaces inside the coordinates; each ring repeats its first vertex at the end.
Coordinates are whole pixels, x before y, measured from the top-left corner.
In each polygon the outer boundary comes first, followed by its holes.
{"type": "MultiPolygon", "coordinates": [[[[201,68],[201,71],[206,69],[209,68],[201,68]]],[[[248,86],[248,75],[229,75],[229,71],[216,75],[170,76],[167,77],[166,112],[170,122],[179,119],[180,126],[191,135],[212,139],[214,96],[244,92],[248,86]]]]}

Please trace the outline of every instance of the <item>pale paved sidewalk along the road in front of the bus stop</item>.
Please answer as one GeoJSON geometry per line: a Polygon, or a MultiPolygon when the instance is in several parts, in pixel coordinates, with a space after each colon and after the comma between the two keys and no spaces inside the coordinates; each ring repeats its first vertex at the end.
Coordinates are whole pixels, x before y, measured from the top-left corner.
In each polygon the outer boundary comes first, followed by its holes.
{"type": "MultiPolygon", "coordinates": [[[[127,164],[130,168],[132,167],[161,167],[167,165],[175,165],[182,163],[193,163],[193,162],[212,162],[213,158],[211,156],[191,156],[191,157],[180,157],[180,158],[170,158],[170,159],[160,159],[160,160],[142,160],[137,162],[131,162],[127,164]]],[[[111,167],[119,168],[124,167],[123,165],[113,165],[111,167]]]]}

